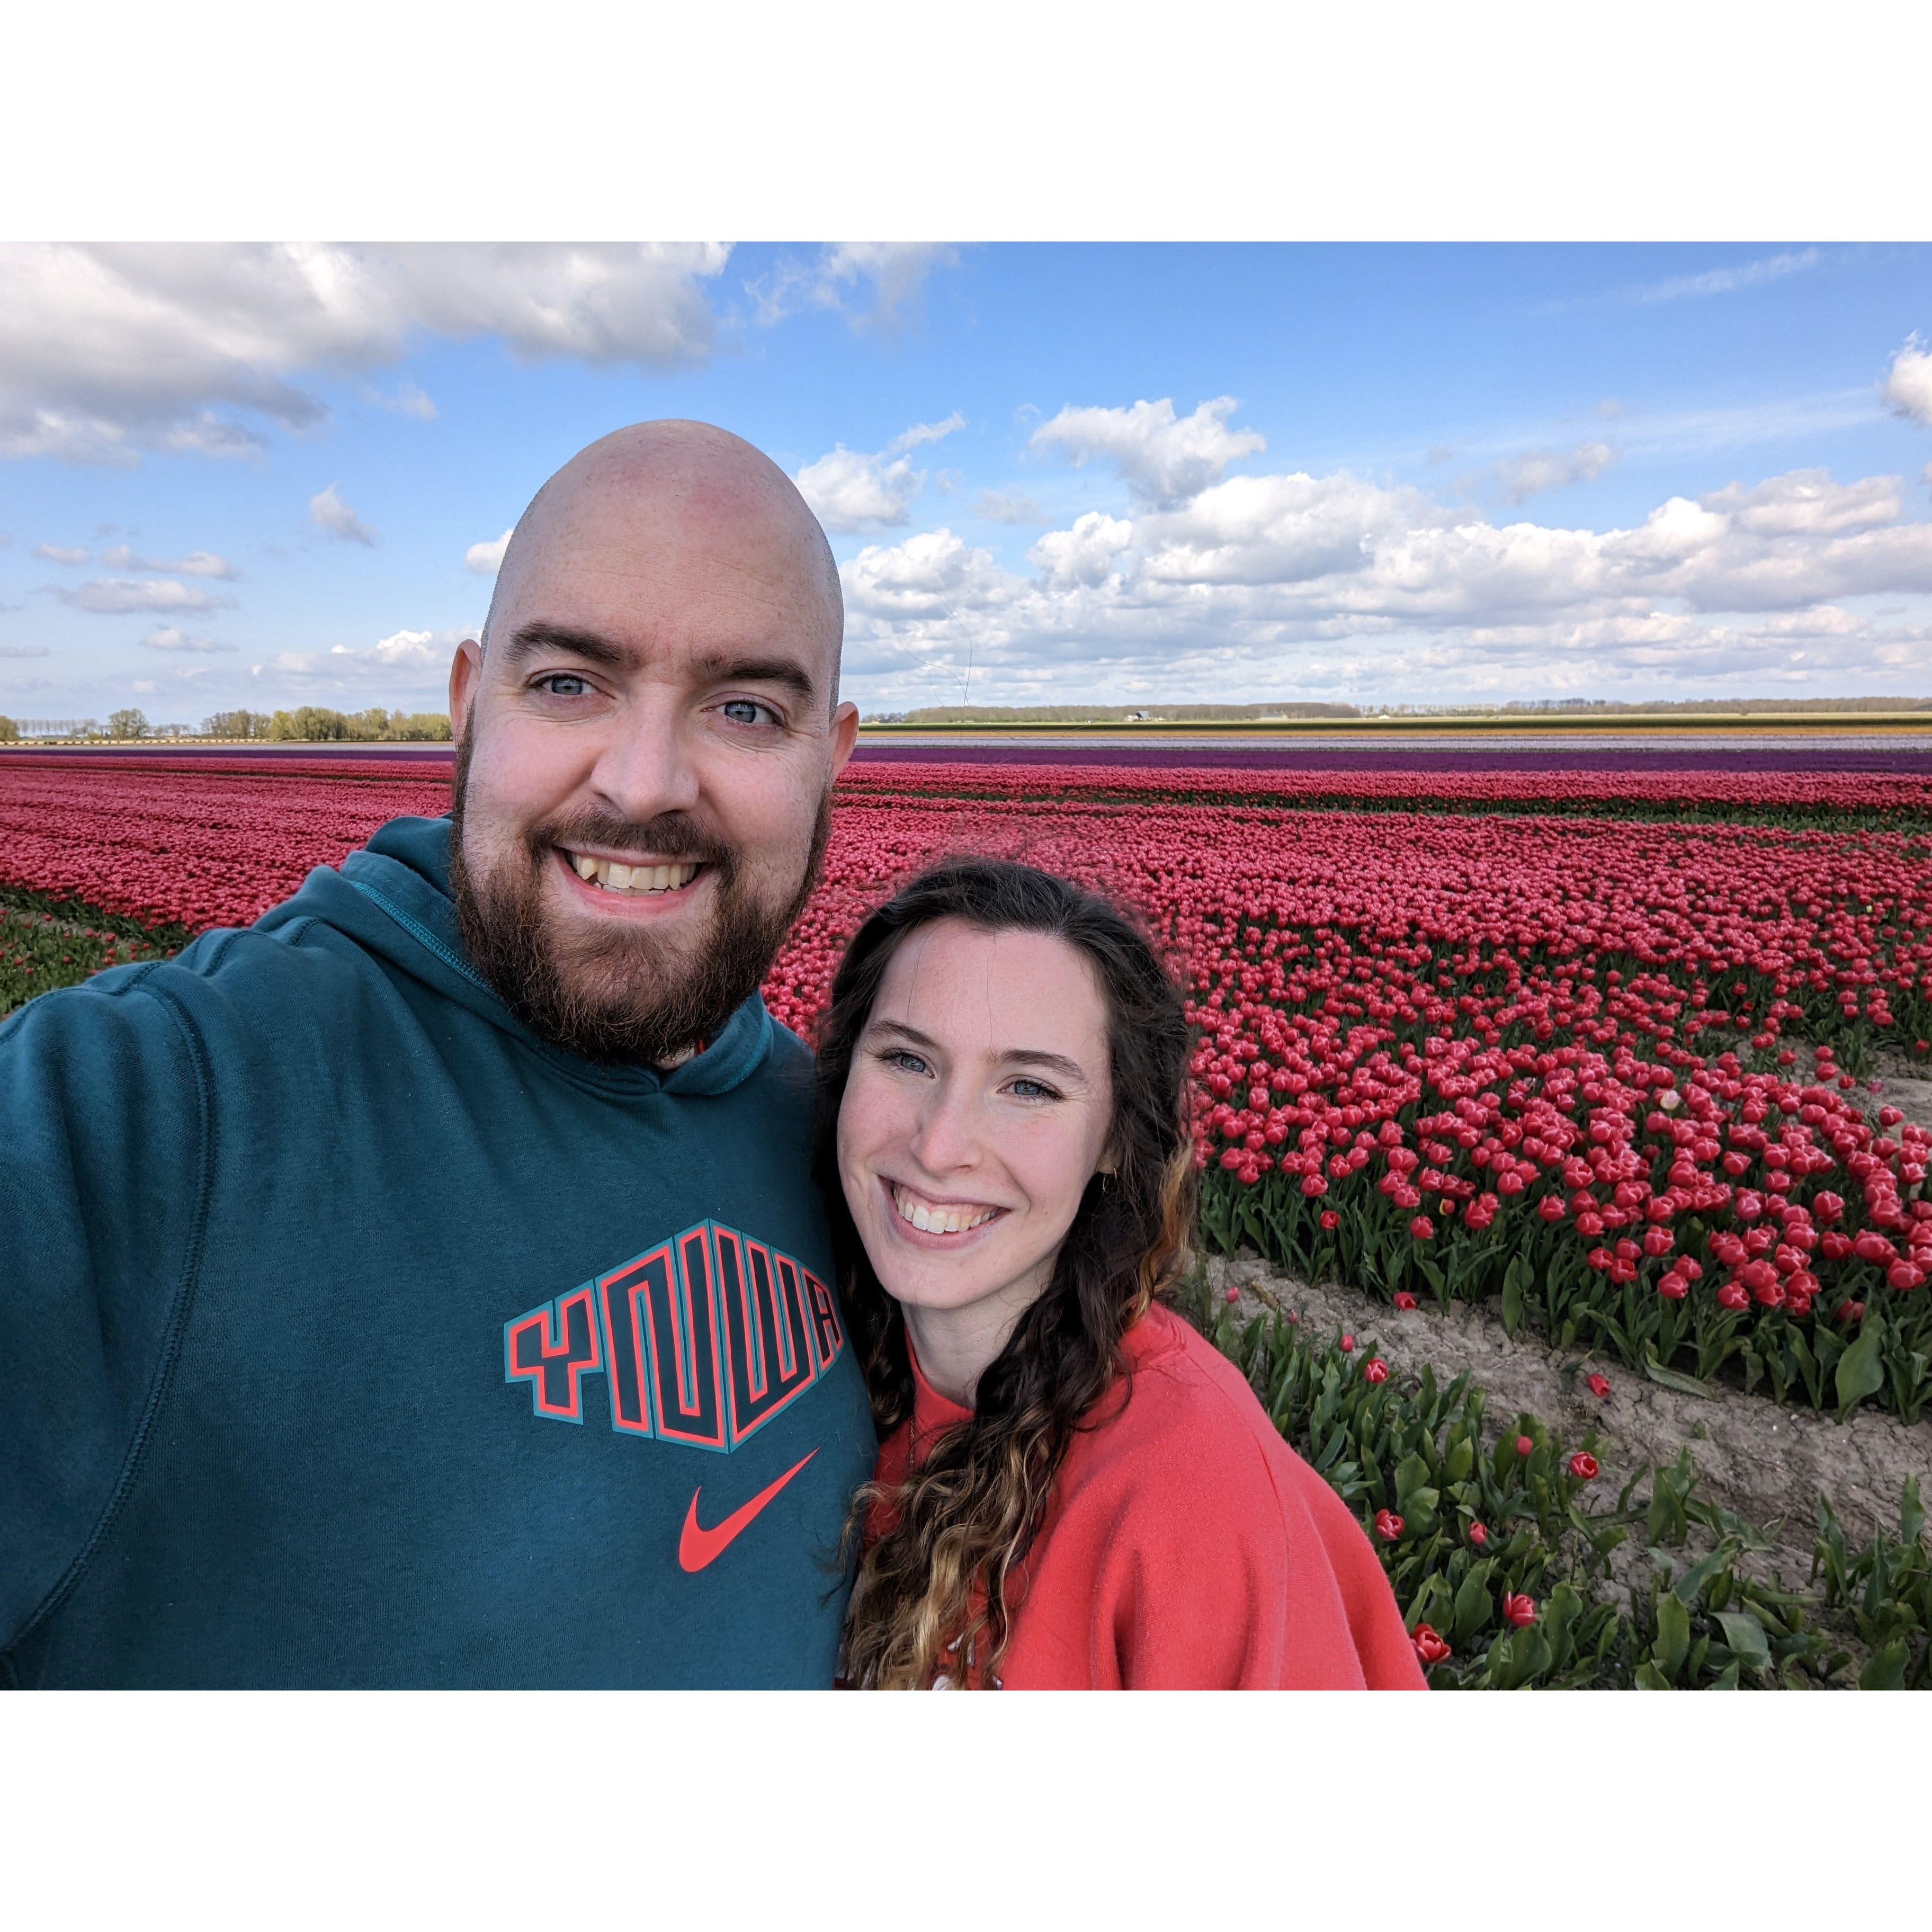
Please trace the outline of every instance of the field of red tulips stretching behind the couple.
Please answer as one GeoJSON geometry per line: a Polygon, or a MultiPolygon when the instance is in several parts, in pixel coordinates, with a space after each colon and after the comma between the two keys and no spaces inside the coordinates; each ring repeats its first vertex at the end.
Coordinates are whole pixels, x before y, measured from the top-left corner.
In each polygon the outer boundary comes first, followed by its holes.
{"type": "MultiPolygon", "coordinates": [[[[0,1005],[110,945],[147,956],[131,949],[245,922],[446,792],[448,767],[427,761],[0,757],[0,1005]],[[66,968],[35,964],[50,943],[66,968]]],[[[1901,1424],[1932,1405],[1932,1136],[1876,1094],[1882,1074],[1932,1078],[1922,765],[862,757],[767,981],[773,1012],[810,1037],[850,931],[893,881],[952,852],[1107,889],[1167,951],[1198,1036],[1208,1250],[1252,1248],[1397,1306],[1488,1302],[1511,1333],[1665,1383],[1901,1424]]],[[[1281,1337],[1242,1347],[1302,1447],[1325,1364],[1291,1362],[1281,1337]]],[[[1397,1395],[1352,1399],[1370,1393],[1397,1395]]],[[[1449,1424],[1432,1410],[1418,1428],[1435,1447],[1418,1437],[1403,1466],[1434,1515],[1449,1424]]],[[[1592,1464],[1578,1455],[1544,1472],[1536,1509],[1569,1509],[1592,1464]]],[[[1486,1507],[1503,1509],[1526,1478],[1505,1457],[1486,1480],[1486,1507]]],[[[1364,1524],[1374,1509],[1403,1522],[1395,1490],[1362,1497],[1364,1524]]],[[[1459,1596],[1495,1551],[1457,1551],[1435,1582],[1399,1569],[1412,1549],[1385,1559],[1405,1604],[1424,1604],[1412,1625],[1468,1658],[1503,1598],[1488,1582],[1459,1596]]],[[[1843,1538],[1833,1561],[1855,1567],[1843,1538]]],[[[1698,1602],[1712,1656],[1735,1656],[1710,1634],[1735,1613],[1698,1602]]],[[[1679,1615],[1644,1615],[1662,1671],[1679,1615]]],[[[1565,1619],[1565,1671],[1528,1669],[1505,1617],[1480,1681],[1588,1681],[1609,1625],[1582,1598],[1565,1619]]],[[[1474,1681],[1447,1654],[1424,1662],[1474,1681]]]]}

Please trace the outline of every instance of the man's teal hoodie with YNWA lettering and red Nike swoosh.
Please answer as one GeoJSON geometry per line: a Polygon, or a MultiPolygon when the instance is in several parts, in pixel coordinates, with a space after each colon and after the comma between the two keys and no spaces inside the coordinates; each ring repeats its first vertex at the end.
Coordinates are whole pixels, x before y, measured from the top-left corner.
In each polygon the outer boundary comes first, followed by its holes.
{"type": "Polygon", "coordinates": [[[448,833],[0,1026],[0,1683],[831,1683],[810,1055],[549,1047],[448,833]]]}

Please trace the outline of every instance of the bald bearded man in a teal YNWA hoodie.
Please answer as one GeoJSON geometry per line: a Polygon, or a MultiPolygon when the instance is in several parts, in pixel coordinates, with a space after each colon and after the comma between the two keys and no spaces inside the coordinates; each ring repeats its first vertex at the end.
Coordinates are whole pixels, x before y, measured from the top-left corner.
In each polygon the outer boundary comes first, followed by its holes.
{"type": "Polygon", "coordinates": [[[454,806],[0,1026],[0,1681],[829,1685],[873,1432],[757,997],[856,713],[792,483],[537,493],[454,806]]]}

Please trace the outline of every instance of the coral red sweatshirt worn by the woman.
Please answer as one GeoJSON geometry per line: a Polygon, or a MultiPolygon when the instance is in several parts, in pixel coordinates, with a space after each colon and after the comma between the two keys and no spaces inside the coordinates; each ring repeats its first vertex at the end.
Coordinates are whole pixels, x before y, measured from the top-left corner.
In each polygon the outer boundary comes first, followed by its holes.
{"type": "MultiPolygon", "coordinates": [[[[1151,1308],[1128,1378],[1074,1435],[1028,1551],[1009,1690],[1420,1690],[1389,1580],[1339,1495],[1281,1439],[1240,1372],[1151,1308]]],[[[970,1410],[912,1362],[914,1410],[877,1480],[970,1410]]]]}

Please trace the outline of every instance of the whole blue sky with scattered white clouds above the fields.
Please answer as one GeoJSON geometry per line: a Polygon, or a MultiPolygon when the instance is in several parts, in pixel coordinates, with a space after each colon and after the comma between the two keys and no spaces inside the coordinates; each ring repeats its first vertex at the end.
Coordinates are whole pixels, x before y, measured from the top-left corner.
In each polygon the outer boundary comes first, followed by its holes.
{"type": "Polygon", "coordinates": [[[1932,249],[0,249],[0,711],[440,707],[605,431],[800,479],[867,711],[1932,694],[1932,249]]]}

